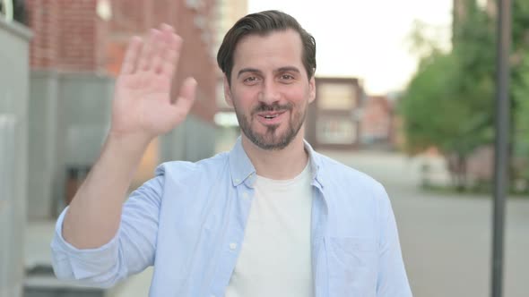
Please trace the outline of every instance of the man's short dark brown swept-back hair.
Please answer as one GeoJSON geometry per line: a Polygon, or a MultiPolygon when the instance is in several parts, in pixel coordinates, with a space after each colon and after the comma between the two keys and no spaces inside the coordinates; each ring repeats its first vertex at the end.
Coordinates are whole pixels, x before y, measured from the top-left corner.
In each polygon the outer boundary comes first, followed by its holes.
{"type": "Polygon", "coordinates": [[[217,64],[224,72],[228,82],[230,81],[231,70],[233,69],[233,53],[238,41],[248,35],[257,34],[266,36],[273,31],[295,30],[299,33],[301,44],[303,45],[303,65],[307,71],[308,79],[316,71],[316,40],[306,30],[301,28],[299,22],[291,15],[279,11],[264,11],[261,13],[251,13],[238,20],[226,33],[222,40],[219,53],[217,54],[217,64]]]}

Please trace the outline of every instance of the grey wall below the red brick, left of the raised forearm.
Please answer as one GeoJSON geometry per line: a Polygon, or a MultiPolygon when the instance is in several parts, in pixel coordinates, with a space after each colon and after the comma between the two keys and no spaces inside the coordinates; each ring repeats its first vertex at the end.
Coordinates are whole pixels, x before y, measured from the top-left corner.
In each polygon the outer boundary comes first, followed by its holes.
{"type": "Polygon", "coordinates": [[[30,89],[30,221],[65,206],[69,173],[97,160],[108,132],[114,79],[95,73],[35,71],[30,89]]]}

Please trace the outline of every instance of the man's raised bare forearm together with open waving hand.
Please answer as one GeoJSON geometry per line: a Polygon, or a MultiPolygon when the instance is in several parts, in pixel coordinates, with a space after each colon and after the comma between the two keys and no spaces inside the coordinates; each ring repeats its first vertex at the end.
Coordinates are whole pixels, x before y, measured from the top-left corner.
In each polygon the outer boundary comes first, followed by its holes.
{"type": "Polygon", "coordinates": [[[62,235],[74,247],[96,248],[114,237],[126,191],[150,140],[185,120],[196,81],[187,79],[175,101],[170,94],[181,43],[169,25],[151,30],[145,41],[131,38],[116,82],[112,132],[65,215],[62,235]]]}

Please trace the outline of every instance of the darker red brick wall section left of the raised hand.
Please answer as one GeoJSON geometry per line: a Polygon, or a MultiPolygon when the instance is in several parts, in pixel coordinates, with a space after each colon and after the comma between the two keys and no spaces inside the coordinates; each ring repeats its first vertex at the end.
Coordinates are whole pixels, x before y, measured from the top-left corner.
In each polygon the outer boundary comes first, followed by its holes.
{"type": "Polygon", "coordinates": [[[100,47],[106,25],[96,13],[97,0],[29,0],[33,69],[95,72],[104,63],[100,47]]]}

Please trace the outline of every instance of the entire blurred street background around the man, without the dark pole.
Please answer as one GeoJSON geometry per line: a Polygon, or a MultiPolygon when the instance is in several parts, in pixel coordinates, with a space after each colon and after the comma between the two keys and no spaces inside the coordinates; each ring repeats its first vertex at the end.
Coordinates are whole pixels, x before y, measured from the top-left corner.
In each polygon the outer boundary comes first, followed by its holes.
{"type": "MultiPolygon", "coordinates": [[[[97,160],[126,44],[161,22],[185,39],[175,86],[195,106],[152,141],[161,162],[228,150],[237,119],[216,52],[247,13],[291,13],[317,39],[306,139],[386,186],[415,296],[490,294],[497,4],[491,0],[0,0],[0,297],[146,296],[60,282],[54,222],[97,160]]],[[[529,293],[529,0],[513,0],[504,295],[529,293]]]]}

